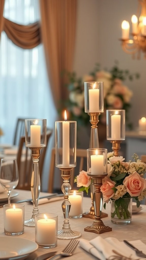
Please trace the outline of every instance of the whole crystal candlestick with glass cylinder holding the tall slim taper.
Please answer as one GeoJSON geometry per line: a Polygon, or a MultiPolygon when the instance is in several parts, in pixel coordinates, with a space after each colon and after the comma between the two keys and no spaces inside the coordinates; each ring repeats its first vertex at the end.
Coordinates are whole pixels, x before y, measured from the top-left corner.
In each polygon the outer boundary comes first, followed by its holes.
{"type": "Polygon", "coordinates": [[[76,121],[56,121],[55,122],[55,157],[56,167],[61,170],[63,184],[61,190],[64,194],[62,211],[64,223],[62,230],[58,231],[59,239],[74,239],[81,237],[81,233],[72,231],[69,224],[69,212],[71,204],[69,202],[69,192],[71,185],[69,179],[71,170],[76,167],[76,121]]]}

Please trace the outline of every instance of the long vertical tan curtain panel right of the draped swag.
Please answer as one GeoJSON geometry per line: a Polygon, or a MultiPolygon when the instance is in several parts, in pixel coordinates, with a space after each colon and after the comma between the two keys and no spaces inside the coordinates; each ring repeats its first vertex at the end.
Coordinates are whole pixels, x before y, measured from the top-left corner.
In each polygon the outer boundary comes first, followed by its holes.
{"type": "Polygon", "coordinates": [[[40,0],[41,35],[56,108],[68,95],[64,70],[71,71],[74,57],[77,0],[40,0]]]}

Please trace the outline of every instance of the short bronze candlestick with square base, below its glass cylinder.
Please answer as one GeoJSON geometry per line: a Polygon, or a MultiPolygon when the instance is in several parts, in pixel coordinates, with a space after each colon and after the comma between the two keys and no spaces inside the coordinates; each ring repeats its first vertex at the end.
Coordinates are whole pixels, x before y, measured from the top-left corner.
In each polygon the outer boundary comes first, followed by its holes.
{"type": "Polygon", "coordinates": [[[95,210],[95,219],[94,222],[91,226],[87,226],[84,231],[87,232],[94,232],[96,234],[102,234],[104,232],[110,232],[112,231],[112,228],[109,226],[105,226],[103,224],[103,221],[101,220],[101,208],[102,208],[102,201],[103,201],[103,195],[102,192],[100,191],[100,187],[102,185],[102,179],[106,177],[108,174],[102,174],[102,175],[93,175],[89,174],[88,175],[92,178],[93,180],[93,185],[95,187],[95,191],[93,194],[93,203],[94,203],[94,210],[95,210]]]}

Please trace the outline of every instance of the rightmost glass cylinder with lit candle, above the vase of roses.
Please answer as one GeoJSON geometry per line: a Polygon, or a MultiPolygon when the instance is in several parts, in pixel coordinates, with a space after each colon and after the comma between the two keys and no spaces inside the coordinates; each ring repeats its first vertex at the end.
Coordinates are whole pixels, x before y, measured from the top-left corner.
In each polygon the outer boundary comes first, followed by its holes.
{"type": "Polygon", "coordinates": [[[107,110],[107,140],[125,140],[125,110],[107,110]]]}

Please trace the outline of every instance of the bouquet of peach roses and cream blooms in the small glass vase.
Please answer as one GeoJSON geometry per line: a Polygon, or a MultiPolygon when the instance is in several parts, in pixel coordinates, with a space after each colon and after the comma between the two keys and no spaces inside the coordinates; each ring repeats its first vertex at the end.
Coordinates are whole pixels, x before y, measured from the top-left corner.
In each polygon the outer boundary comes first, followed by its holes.
{"type": "Polygon", "coordinates": [[[108,176],[103,179],[101,192],[104,202],[115,200],[116,205],[123,203],[123,198],[135,198],[137,207],[146,197],[146,164],[138,159],[137,154],[132,161],[124,162],[124,158],[114,157],[114,152],[108,153],[108,176]],[[135,160],[135,161],[134,161],[135,160]]]}

